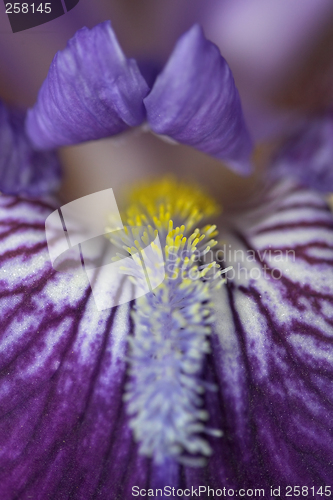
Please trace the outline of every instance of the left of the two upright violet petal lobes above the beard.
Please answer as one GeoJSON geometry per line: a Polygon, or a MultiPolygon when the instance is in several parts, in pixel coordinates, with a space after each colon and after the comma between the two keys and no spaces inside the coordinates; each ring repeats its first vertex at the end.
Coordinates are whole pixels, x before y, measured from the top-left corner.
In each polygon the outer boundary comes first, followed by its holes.
{"type": "Polygon", "coordinates": [[[28,113],[28,134],[41,149],[119,134],[144,121],[147,92],[109,21],[82,28],[53,59],[28,113]]]}

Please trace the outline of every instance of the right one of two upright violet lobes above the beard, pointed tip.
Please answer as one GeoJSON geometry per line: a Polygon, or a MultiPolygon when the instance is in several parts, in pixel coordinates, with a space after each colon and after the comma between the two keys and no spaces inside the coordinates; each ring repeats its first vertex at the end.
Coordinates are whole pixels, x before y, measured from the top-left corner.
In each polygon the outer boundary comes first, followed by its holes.
{"type": "Polygon", "coordinates": [[[230,68],[198,25],[180,38],[144,103],[157,134],[225,160],[242,174],[251,171],[252,144],[230,68]]]}

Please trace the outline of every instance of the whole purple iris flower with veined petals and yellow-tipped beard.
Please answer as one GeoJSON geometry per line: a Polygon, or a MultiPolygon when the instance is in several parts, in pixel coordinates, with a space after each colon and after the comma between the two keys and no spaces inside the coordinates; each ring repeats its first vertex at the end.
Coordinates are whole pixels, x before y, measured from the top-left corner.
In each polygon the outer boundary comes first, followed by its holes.
{"type": "MultiPolygon", "coordinates": [[[[1,134],[44,155],[37,149],[148,123],[249,172],[231,72],[199,27],[149,82],[110,24],[80,30],[51,65],[28,135],[12,132],[8,119],[1,134]]],[[[56,203],[0,198],[3,499],[127,500],[166,486],[175,497],[179,489],[194,498],[200,486],[201,498],[210,498],[208,487],[222,496],[244,488],[243,498],[256,488],[270,498],[271,487],[287,498],[288,486],[329,496],[333,216],[318,186],[306,185],[319,182],[313,167],[329,171],[320,160],[329,141],[314,144],[313,162],[302,161],[295,141],[276,158],[275,180],[218,219],[218,244],[210,223],[218,206],[199,188],[175,180],[136,187],[126,223],[158,229],[174,267],[154,293],[110,310],[97,311],[83,269],[52,268],[44,223],[56,203]],[[223,258],[210,280],[213,248],[223,258]],[[175,267],[185,276],[173,279],[175,267]]]]}

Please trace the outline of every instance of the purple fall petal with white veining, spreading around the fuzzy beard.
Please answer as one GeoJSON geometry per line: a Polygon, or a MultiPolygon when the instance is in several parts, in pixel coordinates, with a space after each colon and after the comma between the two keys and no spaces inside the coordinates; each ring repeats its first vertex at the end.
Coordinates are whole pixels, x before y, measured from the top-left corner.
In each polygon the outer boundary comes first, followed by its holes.
{"type": "MultiPolygon", "coordinates": [[[[132,485],[163,482],[330,484],[333,218],[314,192],[282,185],[265,196],[222,227],[234,249],[256,251],[256,262],[241,267],[268,269],[267,279],[243,271],[215,297],[207,380],[219,390],[207,391],[206,404],[224,435],[210,438],[206,468],[169,464],[164,473],[139,456],[122,401],[130,306],[97,312],[83,272],[52,269],[44,235],[52,206],[1,198],[5,500],[127,500],[132,485]],[[293,250],[295,259],[274,250],[293,250]],[[269,276],[273,268],[281,279],[269,276]]],[[[237,271],[234,259],[226,264],[237,271]]]]}

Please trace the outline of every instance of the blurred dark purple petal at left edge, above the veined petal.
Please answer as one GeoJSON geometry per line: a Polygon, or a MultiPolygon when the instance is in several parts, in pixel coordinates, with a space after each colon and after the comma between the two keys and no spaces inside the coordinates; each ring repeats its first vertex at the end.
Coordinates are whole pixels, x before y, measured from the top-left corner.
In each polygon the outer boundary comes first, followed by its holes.
{"type": "Polygon", "coordinates": [[[55,153],[36,151],[24,131],[24,113],[0,102],[0,191],[40,196],[56,191],[61,169],[55,153]]]}

